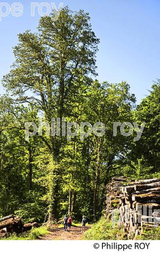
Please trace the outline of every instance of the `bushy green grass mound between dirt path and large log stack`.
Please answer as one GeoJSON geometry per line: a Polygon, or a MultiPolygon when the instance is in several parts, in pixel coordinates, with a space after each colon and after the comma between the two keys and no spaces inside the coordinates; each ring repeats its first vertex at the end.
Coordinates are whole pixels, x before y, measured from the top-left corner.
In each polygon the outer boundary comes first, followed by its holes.
{"type": "Polygon", "coordinates": [[[124,228],[119,228],[117,224],[112,226],[112,222],[104,217],[87,230],[82,240],[126,240],[127,235],[124,228]]]}

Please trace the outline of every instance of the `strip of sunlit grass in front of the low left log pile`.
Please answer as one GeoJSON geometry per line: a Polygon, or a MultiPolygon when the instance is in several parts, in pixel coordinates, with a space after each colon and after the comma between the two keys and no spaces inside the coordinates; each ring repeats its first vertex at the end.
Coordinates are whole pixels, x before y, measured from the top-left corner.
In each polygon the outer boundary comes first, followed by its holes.
{"type": "Polygon", "coordinates": [[[10,234],[8,237],[4,237],[0,240],[36,240],[44,235],[47,235],[49,231],[47,227],[32,228],[31,231],[17,235],[16,233],[10,234]]]}

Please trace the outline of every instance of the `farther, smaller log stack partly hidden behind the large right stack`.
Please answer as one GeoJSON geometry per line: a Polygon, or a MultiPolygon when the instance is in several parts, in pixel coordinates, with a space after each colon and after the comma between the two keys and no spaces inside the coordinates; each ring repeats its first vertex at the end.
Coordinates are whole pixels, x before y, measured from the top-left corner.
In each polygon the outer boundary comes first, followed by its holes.
{"type": "Polygon", "coordinates": [[[127,177],[113,177],[111,182],[107,185],[107,198],[106,198],[106,215],[110,214],[114,209],[118,208],[120,203],[120,191],[123,187],[130,184],[131,181],[127,177]]]}

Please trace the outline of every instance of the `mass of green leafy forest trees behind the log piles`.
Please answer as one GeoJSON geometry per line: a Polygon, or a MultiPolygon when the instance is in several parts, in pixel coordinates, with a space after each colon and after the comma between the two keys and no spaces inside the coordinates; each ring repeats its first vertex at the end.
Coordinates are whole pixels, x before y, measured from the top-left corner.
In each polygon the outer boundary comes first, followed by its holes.
{"type": "Polygon", "coordinates": [[[37,33],[19,34],[15,63],[2,81],[7,95],[0,97],[0,217],[15,213],[25,223],[43,223],[72,214],[74,221],[85,215],[96,222],[113,176],[160,177],[160,80],[135,107],[127,82],[93,78],[99,40],[89,14],[64,7],[53,23],[54,15],[40,19],[37,33]],[[26,141],[25,122],[38,125],[39,116],[49,125],[60,118],[61,132],[62,118],[79,125],[102,122],[106,130],[82,141],[80,133],[67,140],[46,135],[43,127],[26,141]],[[134,141],[135,130],[126,137],[118,128],[113,136],[113,122],[146,126],[134,141]]]}

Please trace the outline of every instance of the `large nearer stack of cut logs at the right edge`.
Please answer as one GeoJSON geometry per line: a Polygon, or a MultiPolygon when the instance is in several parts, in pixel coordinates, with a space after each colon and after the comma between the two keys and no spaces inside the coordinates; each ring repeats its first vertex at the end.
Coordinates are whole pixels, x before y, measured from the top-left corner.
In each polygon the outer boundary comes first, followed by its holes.
{"type": "Polygon", "coordinates": [[[143,229],[160,225],[160,179],[135,181],[120,190],[120,222],[137,236],[143,229]]]}

